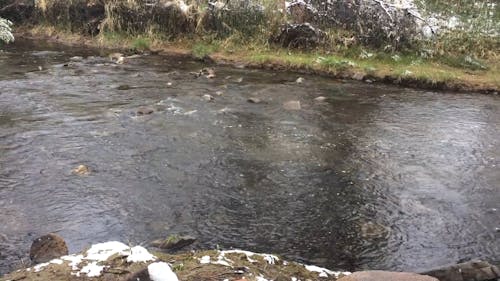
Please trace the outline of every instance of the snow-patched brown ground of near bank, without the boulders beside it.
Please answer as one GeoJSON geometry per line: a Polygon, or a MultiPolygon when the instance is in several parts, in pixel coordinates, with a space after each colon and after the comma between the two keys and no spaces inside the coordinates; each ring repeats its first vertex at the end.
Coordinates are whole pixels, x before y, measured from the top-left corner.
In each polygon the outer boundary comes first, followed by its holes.
{"type": "Polygon", "coordinates": [[[0,280],[325,280],[333,281],[349,272],[336,272],[242,250],[205,250],[177,254],[149,252],[111,241],[65,255],[0,277],[0,280]],[[160,278],[151,270],[163,266],[160,278]],[[149,275],[149,276],[148,276],[149,275]]]}

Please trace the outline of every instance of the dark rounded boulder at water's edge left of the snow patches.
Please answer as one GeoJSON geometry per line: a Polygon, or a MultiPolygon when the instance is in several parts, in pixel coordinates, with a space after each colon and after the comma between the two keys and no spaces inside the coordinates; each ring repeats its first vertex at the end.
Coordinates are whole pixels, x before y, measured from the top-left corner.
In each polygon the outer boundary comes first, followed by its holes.
{"type": "Polygon", "coordinates": [[[68,254],[68,246],[64,239],[54,233],[41,236],[33,241],[30,249],[30,259],[33,263],[48,262],[68,254]]]}

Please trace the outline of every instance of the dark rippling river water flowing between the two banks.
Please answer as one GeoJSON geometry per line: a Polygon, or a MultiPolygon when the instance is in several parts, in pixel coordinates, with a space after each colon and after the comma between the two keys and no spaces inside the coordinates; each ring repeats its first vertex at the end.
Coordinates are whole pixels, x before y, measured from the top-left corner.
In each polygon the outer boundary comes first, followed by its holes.
{"type": "Polygon", "coordinates": [[[48,232],[70,252],[183,233],[345,270],[500,260],[500,97],[203,67],[4,48],[0,273],[48,232]]]}

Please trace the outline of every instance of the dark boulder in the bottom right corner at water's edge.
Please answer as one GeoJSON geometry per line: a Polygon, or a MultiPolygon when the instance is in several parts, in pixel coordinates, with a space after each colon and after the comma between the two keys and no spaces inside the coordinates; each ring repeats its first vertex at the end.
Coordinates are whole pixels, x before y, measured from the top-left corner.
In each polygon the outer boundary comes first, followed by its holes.
{"type": "Polygon", "coordinates": [[[440,281],[486,281],[500,278],[500,269],[485,261],[472,260],[425,271],[440,281]]]}

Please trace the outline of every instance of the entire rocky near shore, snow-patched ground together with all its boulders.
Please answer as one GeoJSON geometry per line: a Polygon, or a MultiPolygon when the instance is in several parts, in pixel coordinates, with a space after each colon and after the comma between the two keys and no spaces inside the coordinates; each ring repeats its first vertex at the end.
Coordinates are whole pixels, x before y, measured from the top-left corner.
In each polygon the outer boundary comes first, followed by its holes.
{"type": "MultiPolygon", "coordinates": [[[[179,245],[179,241],[175,244],[179,245]]],[[[191,251],[174,255],[150,252],[142,246],[130,247],[117,241],[94,244],[81,253],[68,255],[66,243],[55,234],[36,239],[30,258],[34,266],[7,274],[0,280],[485,281],[500,278],[496,266],[482,261],[431,270],[425,273],[428,275],[387,271],[351,274],[243,250],[191,251]]]]}

